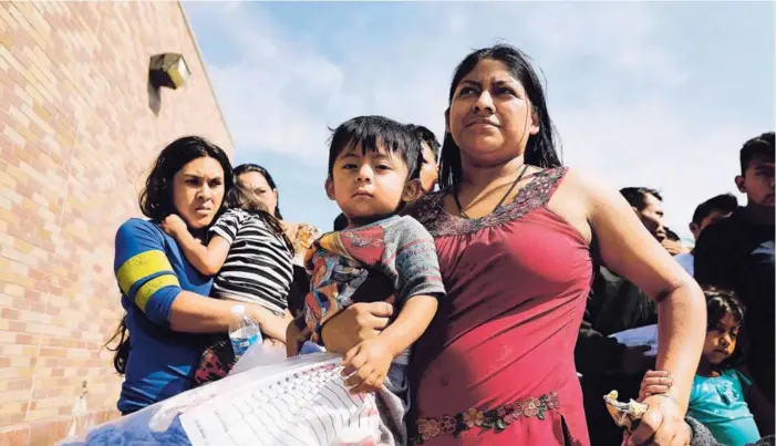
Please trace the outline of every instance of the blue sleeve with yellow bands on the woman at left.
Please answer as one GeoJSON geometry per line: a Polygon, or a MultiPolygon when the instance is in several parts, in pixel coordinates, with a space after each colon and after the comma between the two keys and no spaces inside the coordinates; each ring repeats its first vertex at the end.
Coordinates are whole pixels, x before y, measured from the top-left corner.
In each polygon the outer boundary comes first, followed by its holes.
{"type": "Polygon", "coordinates": [[[133,218],[118,228],[113,270],[122,293],[152,322],[167,326],[180,282],[152,222],[133,218]]]}

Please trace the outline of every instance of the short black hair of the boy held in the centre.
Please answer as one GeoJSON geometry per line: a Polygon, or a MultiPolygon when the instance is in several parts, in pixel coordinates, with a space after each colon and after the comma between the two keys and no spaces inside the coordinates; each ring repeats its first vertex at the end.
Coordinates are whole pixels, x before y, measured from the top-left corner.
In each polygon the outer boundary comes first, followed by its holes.
{"type": "Polygon", "coordinates": [[[376,152],[381,144],[391,154],[399,154],[407,165],[407,179],[421,175],[421,143],[406,125],[385,116],[359,116],[345,121],[332,131],[329,145],[329,177],[332,177],[334,160],[343,151],[361,144],[364,154],[376,152]]]}

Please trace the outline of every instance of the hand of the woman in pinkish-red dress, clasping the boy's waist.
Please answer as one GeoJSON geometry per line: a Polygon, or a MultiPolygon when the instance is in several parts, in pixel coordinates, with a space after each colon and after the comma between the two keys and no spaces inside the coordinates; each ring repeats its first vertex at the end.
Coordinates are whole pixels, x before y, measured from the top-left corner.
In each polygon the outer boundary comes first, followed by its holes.
{"type": "Polygon", "coordinates": [[[332,353],[345,354],[387,326],[393,305],[387,302],[354,303],[328,321],[321,330],[323,345],[332,353]]]}

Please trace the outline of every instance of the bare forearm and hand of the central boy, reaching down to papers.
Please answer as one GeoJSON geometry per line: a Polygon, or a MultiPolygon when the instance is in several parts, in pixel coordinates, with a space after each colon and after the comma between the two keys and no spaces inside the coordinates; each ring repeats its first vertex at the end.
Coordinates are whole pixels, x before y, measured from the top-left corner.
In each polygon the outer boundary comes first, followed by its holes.
{"type": "Polygon", "coordinates": [[[428,328],[437,298],[418,294],[410,298],[396,320],[376,338],[361,342],[351,349],[343,361],[345,370],[356,370],[346,384],[354,386],[351,393],[374,392],[380,388],[394,357],[412,345],[428,328]]]}

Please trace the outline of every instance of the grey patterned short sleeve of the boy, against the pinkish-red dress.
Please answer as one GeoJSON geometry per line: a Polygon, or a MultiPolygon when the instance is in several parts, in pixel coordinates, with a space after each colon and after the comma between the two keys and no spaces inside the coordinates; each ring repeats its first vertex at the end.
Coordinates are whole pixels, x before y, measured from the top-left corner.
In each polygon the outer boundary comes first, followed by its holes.
{"type": "Polygon", "coordinates": [[[394,276],[396,299],[445,294],[434,238],[417,220],[401,217],[385,231],[384,267],[394,276]]]}

